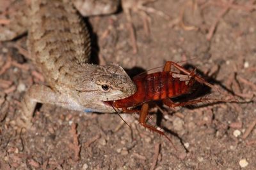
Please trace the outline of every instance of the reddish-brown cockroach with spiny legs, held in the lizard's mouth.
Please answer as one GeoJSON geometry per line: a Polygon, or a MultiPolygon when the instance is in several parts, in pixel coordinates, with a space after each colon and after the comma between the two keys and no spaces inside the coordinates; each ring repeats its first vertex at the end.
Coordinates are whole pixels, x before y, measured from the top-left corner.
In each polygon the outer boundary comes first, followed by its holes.
{"type": "Polygon", "coordinates": [[[209,98],[197,99],[182,103],[174,103],[172,101],[171,98],[173,97],[178,97],[183,94],[189,94],[191,90],[193,90],[192,87],[196,81],[198,83],[207,85],[212,89],[217,89],[216,87],[211,85],[211,83],[208,83],[203,78],[196,75],[195,70],[188,71],[184,67],[172,61],[167,61],[166,64],[164,64],[163,71],[161,72],[151,74],[139,74],[138,76],[135,76],[132,80],[137,87],[137,91],[135,92],[135,94],[125,99],[107,101],[106,103],[113,106],[113,108],[122,109],[123,113],[140,112],[140,124],[143,125],[143,127],[149,129],[150,131],[157,132],[157,134],[165,136],[171,143],[171,139],[168,138],[168,136],[166,136],[164,132],[159,131],[156,129],[156,127],[153,127],[152,125],[148,125],[146,123],[146,118],[148,115],[148,102],[163,100],[163,103],[166,104],[166,106],[174,108],[176,106],[186,106],[209,100],[209,98]],[[171,71],[172,66],[178,69],[180,73],[175,73],[171,71]],[[134,107],[140,105],[142,105],[141,110],[134,110],[134,107]]]}

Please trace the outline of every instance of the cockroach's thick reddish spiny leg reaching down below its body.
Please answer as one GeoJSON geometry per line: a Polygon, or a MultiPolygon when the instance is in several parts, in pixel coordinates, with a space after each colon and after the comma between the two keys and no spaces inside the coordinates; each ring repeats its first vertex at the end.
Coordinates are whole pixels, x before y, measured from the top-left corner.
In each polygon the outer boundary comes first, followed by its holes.
{"type": "MultiPolygon", "coordinates": [[[[145,103],[141,106],[140,119],[139,119],[140,124],[143,125],[143,127],[149,129],[150,131],[157,132],[158,134],[161,134],[166,139],[168,139],[168,141],[170,141],[170,143],[172,143],[172,140],[166,134],[164,134],[164,132],[157,130],[156,127],[153,127],[152,125],[146,124],[147,115],[148,115],[148,104],[145,103]]],[[[173,143],[172,143],[172,146],[173,146],[173,148],[175,148],[175,150],[177,150],[177,148],[175,147],[175,145],[173,145],[173,143]]]]}

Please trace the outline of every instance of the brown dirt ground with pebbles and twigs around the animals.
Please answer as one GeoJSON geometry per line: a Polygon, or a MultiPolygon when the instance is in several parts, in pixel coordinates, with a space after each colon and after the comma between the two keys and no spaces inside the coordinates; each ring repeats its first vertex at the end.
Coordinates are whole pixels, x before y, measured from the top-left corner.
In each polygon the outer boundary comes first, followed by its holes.
{"type": "MultiPolygon", "coordinates": [[[[141,15],[132,13],[136,54],[122,11],[88,20],[93,60],[99,64],[120,64],[133,76],[166,60],[186,60],[181,64],[196,67],[241,101],[175,110],[153,105],[148,124],[161,127],[177,151],[166,138],[141,127],[138,115],[122,115],[130,129],[116,114],[50,104],[38,108],[31,129],[17,132],[20,99],[42,77],[19,50],[26,35],[1,43],[0,169],[256,169],[256,11],[250,8],[253,1],[237,3],[228,8],[227,1],[198,1],[194,11],[191,1],[148,4],[170,19],[150,14],[147,36],[141,15]]],[[[214,90],[208,96],[227,97],[214,90]]]]}

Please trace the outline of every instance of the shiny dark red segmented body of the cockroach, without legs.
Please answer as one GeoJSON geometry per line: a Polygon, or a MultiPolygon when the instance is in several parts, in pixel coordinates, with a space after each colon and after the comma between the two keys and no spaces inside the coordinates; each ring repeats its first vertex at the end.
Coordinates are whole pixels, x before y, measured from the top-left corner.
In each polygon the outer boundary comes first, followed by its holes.
{"type": "MultiPolygon", "coordinates": [[[[114,102],[116,108],[137,106],[148,101],[157,101],[168,97],[177,97],[190,91],[194,81],[189,77],[182,80],[179,74],[175,78],[171,72],[157,72],[136,76],[133,81],[137,92],[130,97],[114,102]]],[[[184,75],[181,75],[184,76],[184,75]]]]}

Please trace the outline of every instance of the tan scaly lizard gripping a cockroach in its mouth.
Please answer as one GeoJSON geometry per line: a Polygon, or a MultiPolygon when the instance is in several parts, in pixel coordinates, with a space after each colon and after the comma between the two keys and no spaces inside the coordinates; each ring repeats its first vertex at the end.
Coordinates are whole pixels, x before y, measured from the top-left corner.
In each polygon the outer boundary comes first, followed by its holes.
{"type": "MultiPolygon", "coordinates": [[[[22,7],[25,2],[18,4],[22,7]]],[[[32,85],[24,94],[19,125],[31,127],[37,103],[110,113],[115,110],[104,101],[124,99],[136,92],[136,85],[121,66],[88,64],[89,32],[71,1],[33,0],[26,5],[20,20],[11,20],[10,27],[0,27],[0,41],[13,39],[28,30],[29,55],[47,84],[32,85]]],[[[13,18],[19,17],[19,12],[13,18]]]]}

